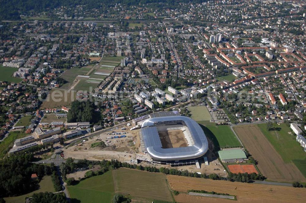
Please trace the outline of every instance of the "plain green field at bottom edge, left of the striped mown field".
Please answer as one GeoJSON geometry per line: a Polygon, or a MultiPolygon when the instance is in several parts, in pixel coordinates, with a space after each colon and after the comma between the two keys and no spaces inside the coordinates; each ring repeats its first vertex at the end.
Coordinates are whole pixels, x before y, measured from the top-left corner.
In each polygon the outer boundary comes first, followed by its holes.
{"type": "Polygon", "coordinates": [[[77,185],[68,186],[72,203],[111,202],[115,192],[112,172],[94,176],[80,181],[77,185]]]}

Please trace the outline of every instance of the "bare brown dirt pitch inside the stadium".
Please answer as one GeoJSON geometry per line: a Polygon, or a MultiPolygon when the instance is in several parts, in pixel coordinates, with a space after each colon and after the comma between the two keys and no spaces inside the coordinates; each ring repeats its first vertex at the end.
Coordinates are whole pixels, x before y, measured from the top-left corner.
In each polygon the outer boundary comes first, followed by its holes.
{"type": "Polygon", "coordinates": [[[187,146],[183,131],[181,130],[160,131],[158,134],[160,141],[162,142],[162,148],[187,146]]]}

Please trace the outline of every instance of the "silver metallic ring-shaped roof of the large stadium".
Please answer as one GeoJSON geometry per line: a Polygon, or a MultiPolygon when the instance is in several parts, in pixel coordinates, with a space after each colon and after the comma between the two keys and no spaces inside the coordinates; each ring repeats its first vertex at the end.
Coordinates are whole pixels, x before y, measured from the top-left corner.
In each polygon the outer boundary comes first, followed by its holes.
{"type": "Polygon", "coordinates": [[[186,116],[165,116],[147,119],[141,126],[141,132],[144,139],[144,146],[152,159],[155,160],[174,161],[195,159],[203,156],[208,149],[207,138],[202,128],[196,121],[186,116]],[[183,121],[185,123],[190,131],[194,145],[178,148],[162,148],[162,143],[155,125],[171,121],[183,121]]]}

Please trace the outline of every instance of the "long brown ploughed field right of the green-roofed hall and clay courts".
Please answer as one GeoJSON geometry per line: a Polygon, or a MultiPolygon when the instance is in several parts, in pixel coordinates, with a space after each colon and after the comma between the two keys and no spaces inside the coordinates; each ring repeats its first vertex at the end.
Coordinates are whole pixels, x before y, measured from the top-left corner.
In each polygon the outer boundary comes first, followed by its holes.
{"type": "Polygon", "coordinates": [[[285,163],[257,125],[234,127],[241,142],[257,161],[259,171],[272,181],[293,182],[306,179],[293,163],[285,163]]]}

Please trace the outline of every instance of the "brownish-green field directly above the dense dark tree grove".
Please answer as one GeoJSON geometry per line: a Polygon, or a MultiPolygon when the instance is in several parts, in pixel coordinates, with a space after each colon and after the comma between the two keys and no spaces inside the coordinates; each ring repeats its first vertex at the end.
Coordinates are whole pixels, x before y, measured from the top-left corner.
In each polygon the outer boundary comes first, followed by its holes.
{"type": "Polygon", "coordinates": [[[52,89],[49,95],[47,96],[46,101],[43,101],[43,104],[40,106],[40,109],[59,108],[62,106],[69,106],[71,102],[75,100],[75,98],[76,98],[76,91],[52,89]],[[54,95],[54,98],[60,99],[60,101],[53,100],[50,97],[50,95],[54,95]]]}

